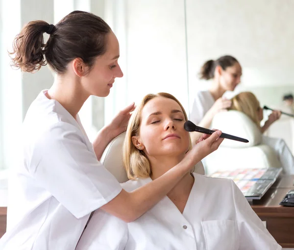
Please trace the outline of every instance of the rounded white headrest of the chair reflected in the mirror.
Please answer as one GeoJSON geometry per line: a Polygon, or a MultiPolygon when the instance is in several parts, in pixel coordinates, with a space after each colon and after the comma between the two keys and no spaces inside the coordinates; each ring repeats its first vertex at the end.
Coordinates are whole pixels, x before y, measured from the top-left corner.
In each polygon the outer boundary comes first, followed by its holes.
{"type": "Polygon", "coordinates": [[[243,143],[225,139],[221,147],[249,148],[259,145],[262,140],[258,126],[243,112],[236,110],[217,113],[212,120],[211,128],[220,129],[223,133],[239,136],[249,141],[243,143]]]}

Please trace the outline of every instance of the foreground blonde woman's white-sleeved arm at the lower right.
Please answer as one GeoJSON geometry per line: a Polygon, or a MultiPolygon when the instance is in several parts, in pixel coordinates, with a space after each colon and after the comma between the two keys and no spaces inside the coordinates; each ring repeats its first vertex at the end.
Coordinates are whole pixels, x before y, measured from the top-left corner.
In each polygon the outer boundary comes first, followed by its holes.
{"type": "Polygon", "coordinates": [[[240,237],[239,250],[281,250],[233,180],[231,184],[240,237]]]}

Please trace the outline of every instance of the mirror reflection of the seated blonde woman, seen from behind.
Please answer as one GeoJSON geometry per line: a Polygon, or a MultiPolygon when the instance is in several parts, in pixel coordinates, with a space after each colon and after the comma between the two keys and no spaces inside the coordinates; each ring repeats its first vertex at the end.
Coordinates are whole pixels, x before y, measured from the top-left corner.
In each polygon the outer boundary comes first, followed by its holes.
{"type": "MultiPolygon", "coordinates": [[[[229,108],[245,113],[259,128],[261,133],[264,133],[269,126],[281,117],[281,112],[274,110],[269,116],[269,119],[263,126],[260,122],[263,120],[263,109],[260,103],[251,92],[242,92],[232,98],[232,106],[229,108]]],[[[291,150],[281,138],[270,138],[263,135],[263,143],[270,146],[278,155],[285,174],[294,174],[294,157],[291,150]]]]}

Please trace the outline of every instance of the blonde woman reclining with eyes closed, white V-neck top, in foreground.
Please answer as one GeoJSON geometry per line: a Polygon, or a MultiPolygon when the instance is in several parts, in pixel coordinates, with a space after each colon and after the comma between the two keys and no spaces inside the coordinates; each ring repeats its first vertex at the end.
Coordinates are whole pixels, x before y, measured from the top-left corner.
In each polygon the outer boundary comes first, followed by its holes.
{"type": "MultiPolygon", "coordinates": [[[[185,121],[185,110],[172,95],[149,94],[143,99],[126,131],[123,159],[131,180],[122,184],[125,190],[131,192],[154,181],[183,159],[191,148],[185,121]]],[[[132,223],[97,210],[77,246],[77,250],[85,249],[280,250],[281,247],[232,180],[188,173],[163,200],[132,223]]]]}

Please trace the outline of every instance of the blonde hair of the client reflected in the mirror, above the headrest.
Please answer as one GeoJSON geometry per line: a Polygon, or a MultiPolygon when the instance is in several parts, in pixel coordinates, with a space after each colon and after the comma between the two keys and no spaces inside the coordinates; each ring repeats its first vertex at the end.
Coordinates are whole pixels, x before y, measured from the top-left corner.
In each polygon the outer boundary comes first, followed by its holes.
{"type": "Polygon", "coordinates": [[[260,108],[260,103],[253,93],[241,92],[231,100],[232,106],[229,109],[238,110],[245,113],[258,127],[260,127],[260,121],[257,112],[260,108]]]}

